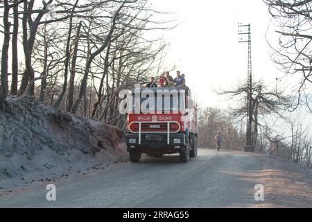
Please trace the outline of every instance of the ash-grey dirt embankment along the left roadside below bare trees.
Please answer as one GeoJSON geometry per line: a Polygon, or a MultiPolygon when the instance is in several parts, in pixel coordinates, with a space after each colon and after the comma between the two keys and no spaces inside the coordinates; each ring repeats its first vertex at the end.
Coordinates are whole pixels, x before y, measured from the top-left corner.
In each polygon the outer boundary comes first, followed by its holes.
{"type": "Polygon", "coordinates": [[[126,160],[118,128],[31,99],[7,103],[6,112],[0,110],[0,185],[7,178],[68,174],[126,160]]]}

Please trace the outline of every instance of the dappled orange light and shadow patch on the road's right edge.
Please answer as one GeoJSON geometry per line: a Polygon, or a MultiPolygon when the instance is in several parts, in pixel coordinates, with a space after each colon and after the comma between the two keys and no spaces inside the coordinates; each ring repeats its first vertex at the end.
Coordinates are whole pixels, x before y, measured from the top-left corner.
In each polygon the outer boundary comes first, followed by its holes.
{"type": "MultiPolygon", "coordinates": [[[[234,205],[234,207],[312,207],[312,187],[300,173],[279,169],[259,171],[222,171],[236,180],[254,182],[265,187],[265,201],[259,205],[234,205]]],[[[250,190],[250,194],[254,194],[250,190]]]]}

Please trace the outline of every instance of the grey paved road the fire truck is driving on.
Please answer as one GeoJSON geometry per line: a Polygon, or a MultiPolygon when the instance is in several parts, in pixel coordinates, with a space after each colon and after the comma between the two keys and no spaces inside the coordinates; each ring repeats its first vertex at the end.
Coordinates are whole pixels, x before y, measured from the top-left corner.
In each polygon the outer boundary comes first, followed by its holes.
{"type": "MultiPolygon", "coordinates": [[[[200,149],[198,157],[187,164],[180,163],[178,156],[145,158],[139,164],[125,163],[84,178],[56,182],[55,202],[46,201],[42,185],[0,198],[0,207],[285,206],[279,201],[284,198],[282,192],[266,194],[263,202],[254,200],[254,186],[263,181],[270,183],[270,175],[261,174],[270,172],[263,158],[269,160],[263,155],[207,149],[200,149]]],[[[310,185],[307,189],[311,189],[310,185]]],[[[291,198],[294,203],[302,202],[303,197],[298,195],[293,198],[299,199],[291,198]]],[[[304,206],[312,207],[310,200],[304,206]]]]}

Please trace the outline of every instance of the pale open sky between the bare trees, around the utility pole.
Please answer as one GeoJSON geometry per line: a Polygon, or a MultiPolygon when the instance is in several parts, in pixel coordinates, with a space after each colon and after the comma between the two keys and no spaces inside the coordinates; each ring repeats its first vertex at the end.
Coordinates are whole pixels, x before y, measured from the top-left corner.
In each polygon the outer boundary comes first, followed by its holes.
{"type": "Polygon", "coordinates": [[[213,89],[227,89],[247,78],[248,45],[238,43],[238,22],[252,26],[254,76],[275,86],[281,73],[270,60],[265,39],[270,15],[263,1],[153,0],[153,5],[175,12],[182,22],[165,34],[171,44],[165,63],[186,74],[187,85],[202,107],[227,108],[229,103],[213,89]]]}

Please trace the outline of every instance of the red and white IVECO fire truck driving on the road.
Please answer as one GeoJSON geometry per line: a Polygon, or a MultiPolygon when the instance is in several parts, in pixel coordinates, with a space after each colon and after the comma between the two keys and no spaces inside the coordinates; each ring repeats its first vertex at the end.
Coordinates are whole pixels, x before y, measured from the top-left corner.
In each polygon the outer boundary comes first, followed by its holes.
{"type": "Polygon", "coordinates": [[[146,98],[146,90],[132,91],[134,105],[128,113],[126,134],[130,161],[139,162],[142,153],[155,157],[180,153],[181,162],[189,162],[190,157],[196,157],[198,144],[197,108],[190,99],[191,91],[148,89],[155,95],[155,104],[135,112],[135,103],[140,107],[150,99],[146,98]]]}

